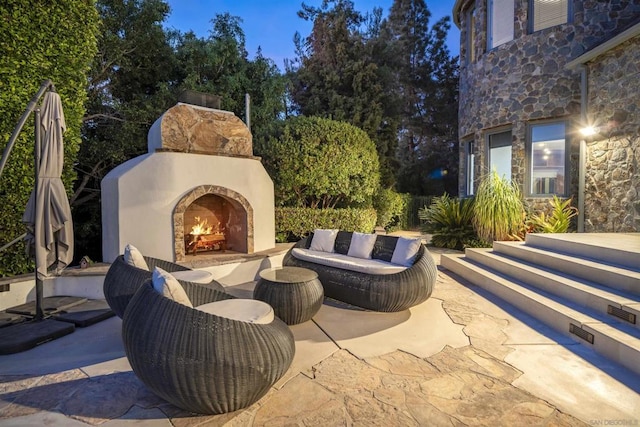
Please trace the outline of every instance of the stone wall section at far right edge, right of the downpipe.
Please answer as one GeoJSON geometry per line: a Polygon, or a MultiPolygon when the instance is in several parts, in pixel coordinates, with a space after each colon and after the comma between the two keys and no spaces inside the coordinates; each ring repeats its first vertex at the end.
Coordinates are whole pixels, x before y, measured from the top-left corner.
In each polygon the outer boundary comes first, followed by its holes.
{"type": "Polygon", "coordinates": [[[588,67],[589,116],[605,129],[587,143],[585,231],[639,232],[640,36],[588,67]]]}

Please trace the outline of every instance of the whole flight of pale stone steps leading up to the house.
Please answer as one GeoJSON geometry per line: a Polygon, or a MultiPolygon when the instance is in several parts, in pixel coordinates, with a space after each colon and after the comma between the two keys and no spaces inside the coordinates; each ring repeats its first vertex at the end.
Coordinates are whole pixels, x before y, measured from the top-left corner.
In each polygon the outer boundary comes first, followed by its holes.
{"type": "Polygon", "coordinates": [[[640,233],[529,234],[441,266],[640,374],[640,233]]]}

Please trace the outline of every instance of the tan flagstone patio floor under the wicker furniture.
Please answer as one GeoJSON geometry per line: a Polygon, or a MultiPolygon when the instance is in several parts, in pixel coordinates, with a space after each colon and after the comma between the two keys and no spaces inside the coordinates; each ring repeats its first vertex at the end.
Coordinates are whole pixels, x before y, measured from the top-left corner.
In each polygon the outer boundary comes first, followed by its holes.
{"type": "MultiPolygon", "coordinates": [[[[439,258],[440,251],[434,250],[439,258]]],[[[251,297],[254,283],[229,287],[251,297]]],[[[446,270],[401,313],[326,300],[251,407],[186,413],[136,378],[111,318],[0,356],[1,426],[639,425],[640,378],[446,270]]]]}

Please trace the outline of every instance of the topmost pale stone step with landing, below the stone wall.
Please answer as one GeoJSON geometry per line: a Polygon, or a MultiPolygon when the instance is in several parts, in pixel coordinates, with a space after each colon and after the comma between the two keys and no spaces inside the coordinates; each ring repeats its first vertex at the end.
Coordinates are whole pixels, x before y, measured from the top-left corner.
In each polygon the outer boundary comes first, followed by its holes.
{"type": "Polygon", "coordinates": [[[525,242],[640,272],[640,233],[530,233],[525,242]]]}

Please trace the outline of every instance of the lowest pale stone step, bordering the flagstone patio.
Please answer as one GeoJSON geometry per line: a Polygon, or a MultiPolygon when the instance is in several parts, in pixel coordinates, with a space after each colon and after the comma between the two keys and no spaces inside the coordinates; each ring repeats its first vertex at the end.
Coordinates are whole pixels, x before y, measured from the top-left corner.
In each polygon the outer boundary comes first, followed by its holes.
{"type": "Polygon", "coordinates": [[[638,329],[499,274],[465,255],[442,255],[440,262],[442,267],[493,293],[563,335],[640,374],[638,329]]]}

